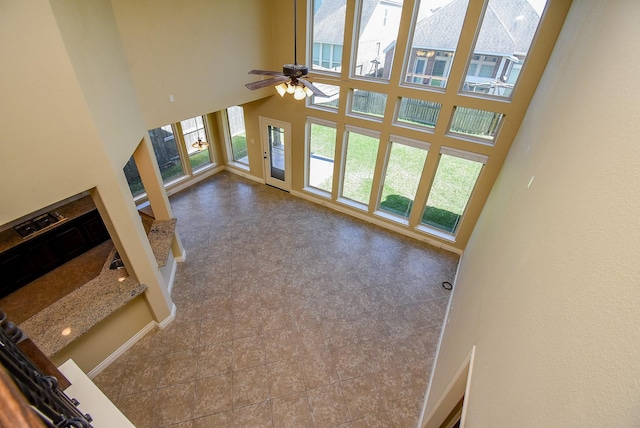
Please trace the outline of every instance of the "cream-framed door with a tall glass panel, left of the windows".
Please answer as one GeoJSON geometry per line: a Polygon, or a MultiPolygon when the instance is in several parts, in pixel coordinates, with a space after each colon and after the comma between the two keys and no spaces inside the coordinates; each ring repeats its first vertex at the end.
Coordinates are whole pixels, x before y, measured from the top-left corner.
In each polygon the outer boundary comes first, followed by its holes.
{"type": "Polygon", "coordinates": [[[265,183],[291,190],[291,125],[260,117],[265,183]]]}

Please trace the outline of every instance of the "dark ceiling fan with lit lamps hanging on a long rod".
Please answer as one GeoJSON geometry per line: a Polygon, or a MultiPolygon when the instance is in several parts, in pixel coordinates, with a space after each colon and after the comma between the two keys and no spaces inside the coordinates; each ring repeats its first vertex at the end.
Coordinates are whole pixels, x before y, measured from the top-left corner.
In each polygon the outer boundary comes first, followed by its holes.
{"type": "Polygon", "coordinates": [[[298,64],[298,42],[297,34],[297,14],[296,0],[293,0],[293,64],[285,64],[282,66],[282,72],[270,70],[251,70],[249,74],[258,74],[263,76],[273,76],[269,79],[259,80],[253,83],[247,83],[245,86],[252,91],[256,89],[266,88],[267,86],[276,85],[276,91],[281,97],[284,94],[293,94],[296,100],[302,100],[305,97],[317,95],[320,97],[328,97],[324,92],[315,87],[311,82],[306,80],[309,69],[306,65],[298,64]]]}

